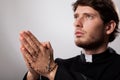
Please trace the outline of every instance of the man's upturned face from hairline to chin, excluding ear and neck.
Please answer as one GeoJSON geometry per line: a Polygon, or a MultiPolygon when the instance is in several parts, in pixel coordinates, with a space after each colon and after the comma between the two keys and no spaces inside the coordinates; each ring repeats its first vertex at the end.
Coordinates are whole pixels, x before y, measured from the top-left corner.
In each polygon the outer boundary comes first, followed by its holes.
{"type": "Polygon", "coordinates": [[[99,13],[89,6],[78,6],[74,12],[75,44],[93,49],[105,41],[105,25],[99,13]]]}

